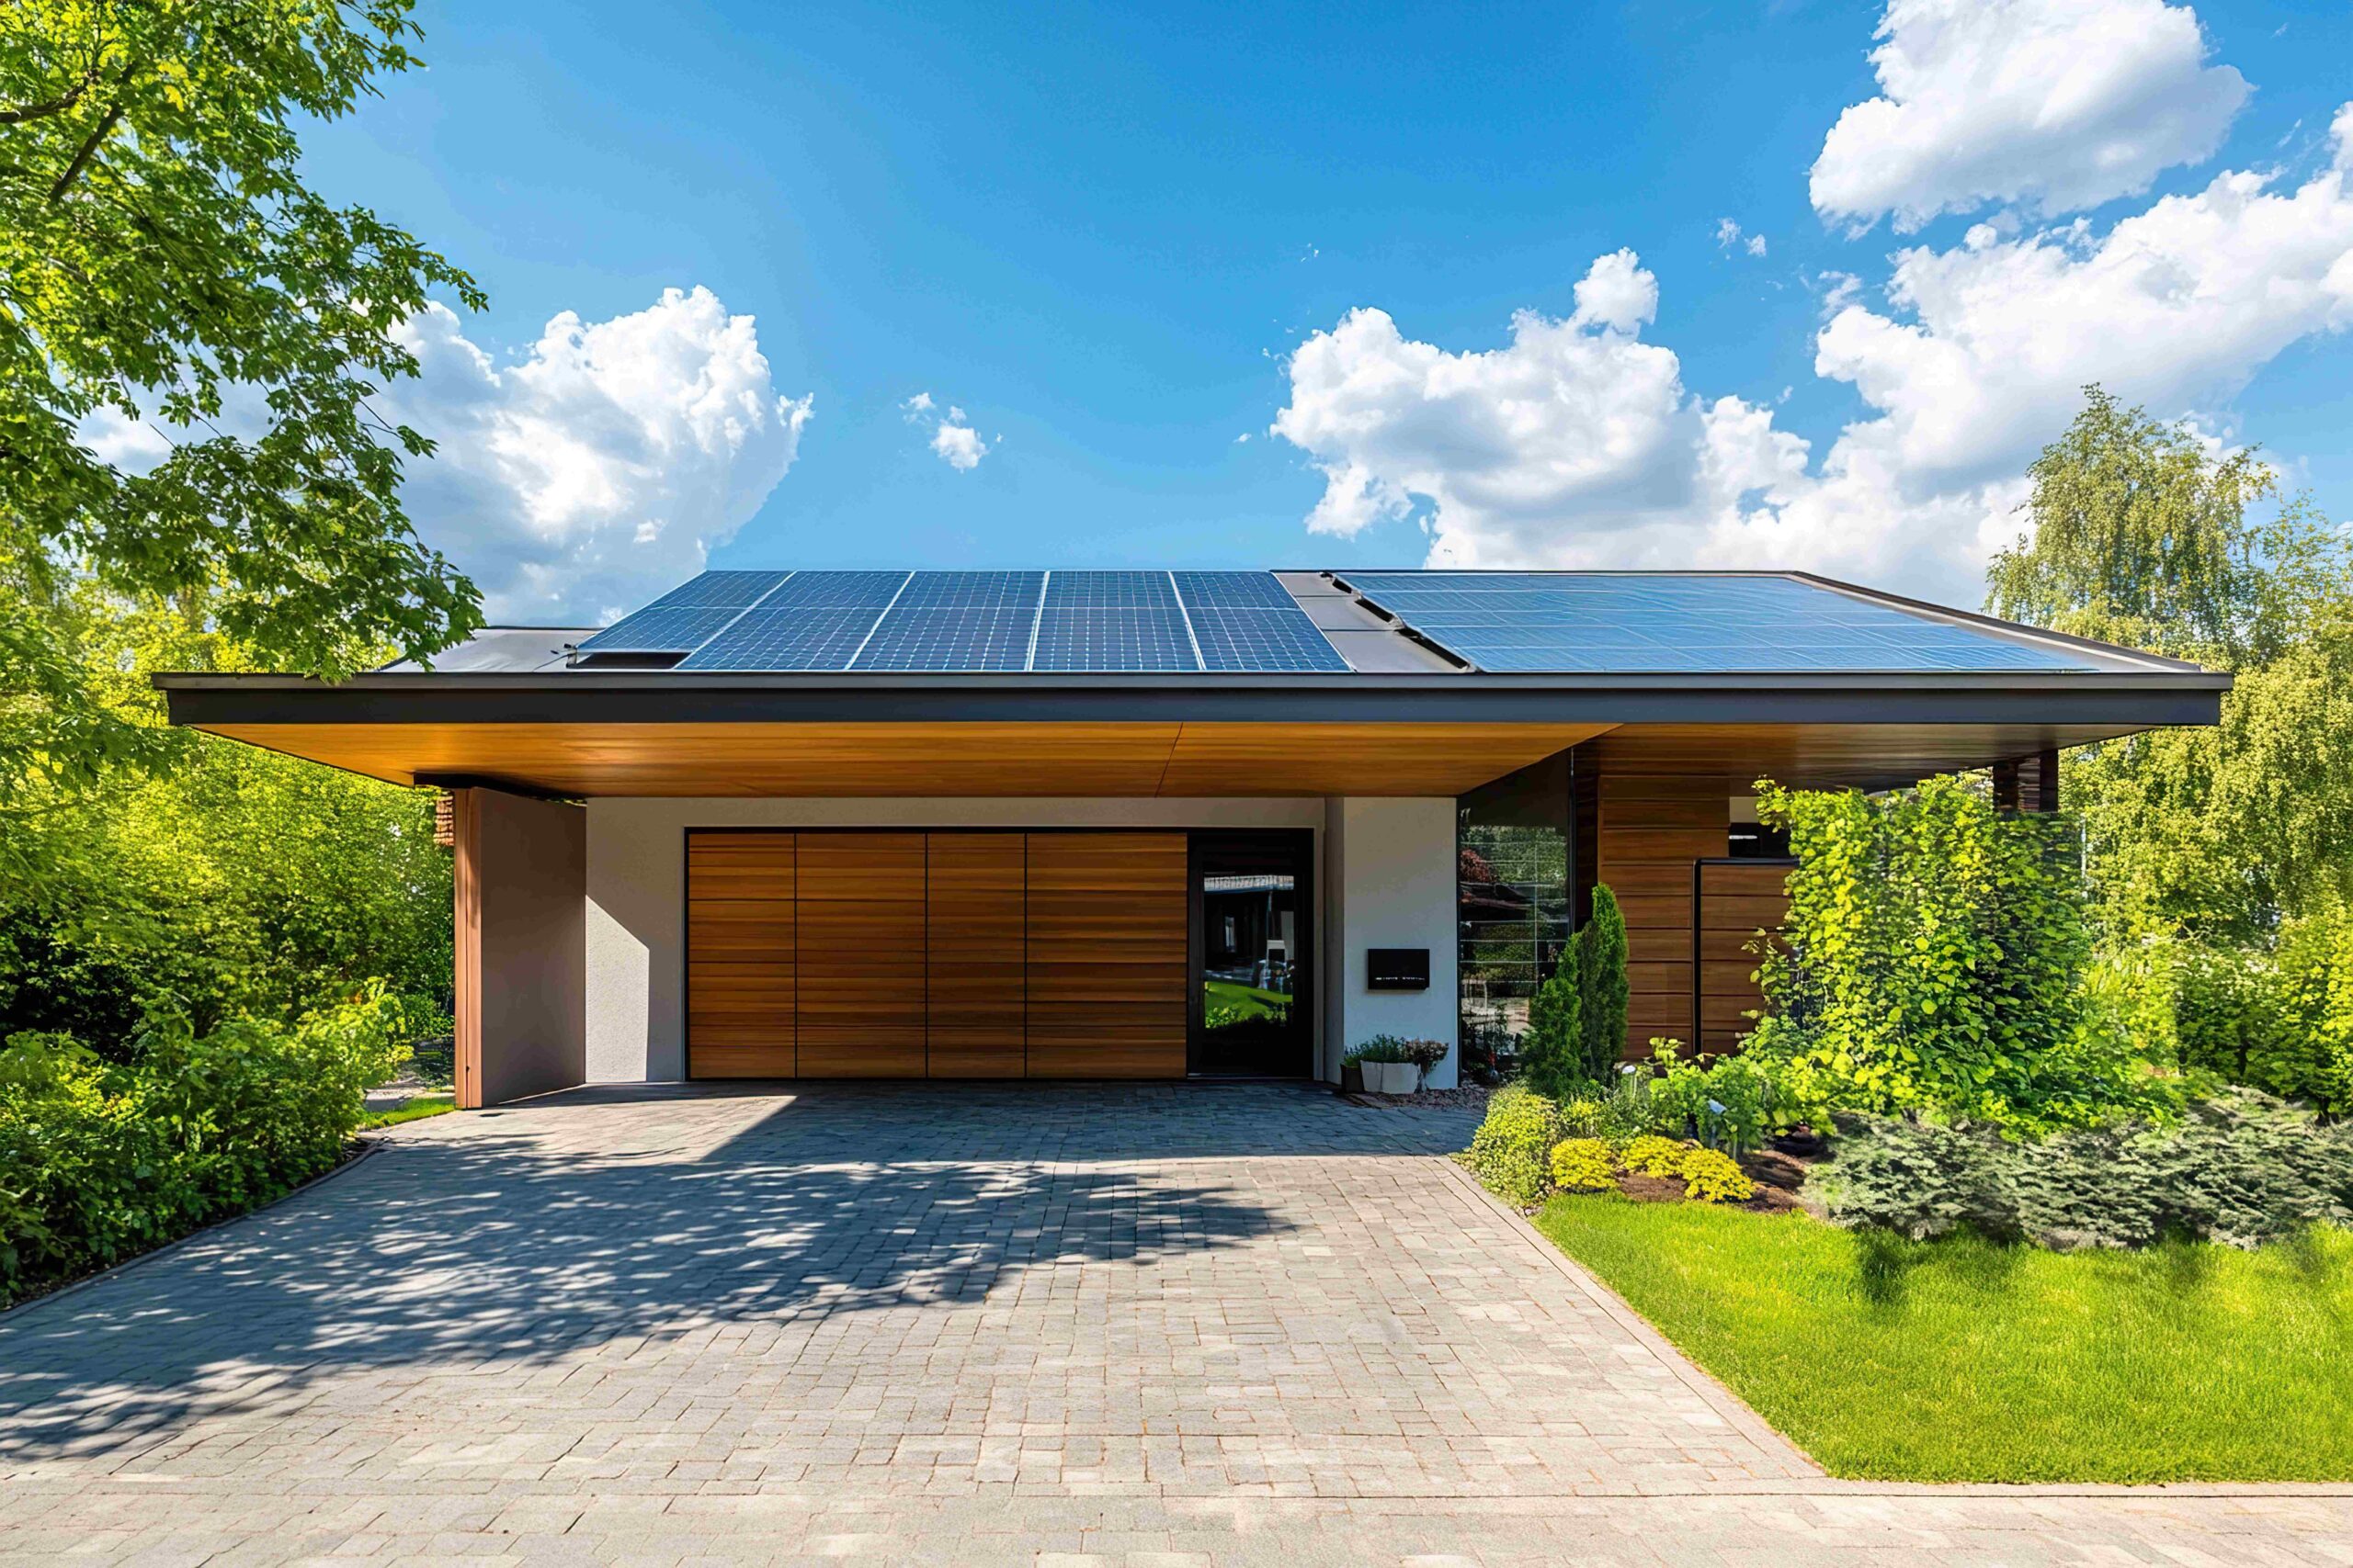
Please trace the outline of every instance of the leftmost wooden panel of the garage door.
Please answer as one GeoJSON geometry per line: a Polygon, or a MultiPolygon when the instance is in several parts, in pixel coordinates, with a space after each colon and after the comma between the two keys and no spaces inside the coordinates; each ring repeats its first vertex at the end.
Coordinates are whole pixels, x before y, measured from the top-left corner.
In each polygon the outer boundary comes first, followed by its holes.
{"type": "Polygon", "coordinates": [[[788,1079],[793,835],[687,835],[687,1039],[699,1079],[788,1079]]]}

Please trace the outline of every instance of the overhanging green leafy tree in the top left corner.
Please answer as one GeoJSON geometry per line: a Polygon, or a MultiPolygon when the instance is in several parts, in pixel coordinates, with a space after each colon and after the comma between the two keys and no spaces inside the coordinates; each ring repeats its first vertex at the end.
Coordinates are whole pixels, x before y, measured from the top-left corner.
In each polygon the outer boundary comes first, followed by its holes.
{"type": "Polygon", "coordinates": [[[416,371],[398,329],[428,289],[482,296],[304,186],[294,132],[412,66],[409,38],[409,0],[0,9],[0,780],[174,755],[92,686],[108,599],[82,585],[202,592],[256,658],[322,677],[480,623],[400,510],[431,444],[367,400],[416,371]]]}

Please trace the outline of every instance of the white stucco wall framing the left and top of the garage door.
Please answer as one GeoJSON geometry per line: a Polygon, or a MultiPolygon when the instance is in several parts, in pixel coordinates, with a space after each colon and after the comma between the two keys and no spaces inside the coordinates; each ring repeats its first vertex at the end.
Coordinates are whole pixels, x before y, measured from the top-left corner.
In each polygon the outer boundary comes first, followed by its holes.
{"type": "MultiPolygon", "coordinates": [[[[1447,929],[1447,943],[1440,943],[1447,957],[1447,1030],[1440,1039],[1452,1039],[1454,802],[1435,804],[1445,806],[1447,875],[1438,907],[1447,929]]],[[[1325,818],[1322,799],[593,799],[588,1081],[685,1077],[687,827],[1308,827],[1322,835],[1325,818]]],[[[1320,844],[1318,853],[1322,858],[1320,844]]],[[[1332,886],[1329,870],[1320,879],[1332,886]]],[[[1339,1060],[1327,1041],[1320,1051],[1339,1060]]]]}

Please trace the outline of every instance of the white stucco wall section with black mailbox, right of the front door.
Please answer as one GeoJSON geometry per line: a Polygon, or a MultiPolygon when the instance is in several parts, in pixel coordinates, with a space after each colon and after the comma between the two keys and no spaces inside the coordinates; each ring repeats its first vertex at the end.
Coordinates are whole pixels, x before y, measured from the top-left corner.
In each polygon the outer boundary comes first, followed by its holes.
{"type": "Polygon", "coordinates": [[[1457,1084],[1454,802],[1332,799],[1325,809],[1325,1077],[1372,1034],[1447,1041],[1431,1088],[1457,1084]],[[1426,992],[1365,985],[1367,947],[1428,947],[1426,992]]]}

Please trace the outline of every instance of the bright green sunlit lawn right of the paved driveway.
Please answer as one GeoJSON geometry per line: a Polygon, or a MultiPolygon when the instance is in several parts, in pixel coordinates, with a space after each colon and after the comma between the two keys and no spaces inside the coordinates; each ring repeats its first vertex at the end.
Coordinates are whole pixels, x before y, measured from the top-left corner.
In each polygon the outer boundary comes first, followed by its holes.
{"type": "Polygon", "coordinates": [[[1560,1197],[1537,1225],[1835,1476],[2353,1479],[2353,1234],[1915,1244],[1560,1197]]]}

